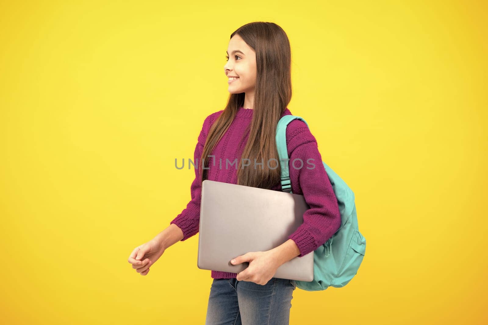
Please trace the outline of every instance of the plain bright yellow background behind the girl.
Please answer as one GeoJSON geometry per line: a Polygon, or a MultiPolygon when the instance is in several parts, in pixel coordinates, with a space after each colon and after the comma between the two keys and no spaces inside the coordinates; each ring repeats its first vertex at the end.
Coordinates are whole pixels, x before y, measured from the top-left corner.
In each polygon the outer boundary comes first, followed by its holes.
{"type": "Polygon", "coordinates": [[[289,109],[356,195],[366,256],[290,324],[486,324],[484,1],[2,1],[4,324],[203,324],[198,234],[130,252],[190,200],[230,34],[282,26],[289,109]]]}

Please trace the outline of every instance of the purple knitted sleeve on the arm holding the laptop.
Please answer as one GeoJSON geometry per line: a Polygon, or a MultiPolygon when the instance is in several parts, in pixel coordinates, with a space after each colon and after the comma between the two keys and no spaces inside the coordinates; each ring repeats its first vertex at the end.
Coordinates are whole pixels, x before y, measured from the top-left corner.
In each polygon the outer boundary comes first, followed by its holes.
{"type": "Polygon", "coordinates": [[[305,122],[293,120],[288,124],[286,142],[292,191],[304,195],[309,206],[303,224],[288,236],[302,257],[332,237],[341,226],[341,214],[317,141],[305,122]]]}

